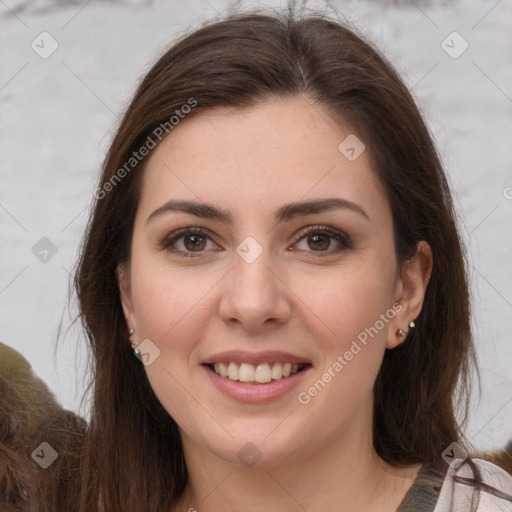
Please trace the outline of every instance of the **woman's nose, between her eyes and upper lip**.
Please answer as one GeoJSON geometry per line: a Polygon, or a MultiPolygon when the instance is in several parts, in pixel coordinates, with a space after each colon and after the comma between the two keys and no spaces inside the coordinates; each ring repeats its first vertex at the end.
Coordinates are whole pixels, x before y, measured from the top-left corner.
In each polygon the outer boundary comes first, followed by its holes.
{"type": "Polygon", "coordinates": [[[250,263],[235,254],[234,267],[223,280],[219,306],[226,323],[241,324],[251,332],[266,332],[288,322],[293,294],[270,252],[263,250],[250,263]]]}

